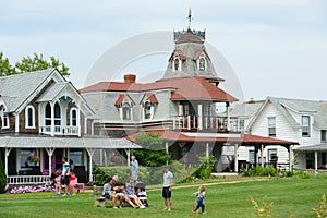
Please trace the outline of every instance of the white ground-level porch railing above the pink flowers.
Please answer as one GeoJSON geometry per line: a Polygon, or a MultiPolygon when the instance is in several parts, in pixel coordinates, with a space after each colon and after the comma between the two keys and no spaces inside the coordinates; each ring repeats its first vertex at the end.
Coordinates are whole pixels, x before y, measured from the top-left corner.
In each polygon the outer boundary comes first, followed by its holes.
{"type": "Polygon", "coordinates": [[[8,184],[48,184],[49,175],[8,175],[8,184]]]}

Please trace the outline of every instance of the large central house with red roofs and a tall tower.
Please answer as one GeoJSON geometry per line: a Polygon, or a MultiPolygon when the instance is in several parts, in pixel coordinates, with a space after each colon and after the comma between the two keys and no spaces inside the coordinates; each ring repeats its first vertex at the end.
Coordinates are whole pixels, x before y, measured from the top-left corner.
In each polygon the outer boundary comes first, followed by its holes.
{"type": "Polygon", "coordinates": [[[238,171],[241,145],[262,149],[296,144],[238,129],[240,120],[230,114],[238,99],[219,87],[223,80],[204,41],[205,32],[174,32],[165,76],[153,83],[137,83],[136,75],[128,74],[123,82],[99,82],[81,89],[98,118],[93,121],[94,134],[131,141],[142,133],[159,134],[173,159],[189,166],[197,164],[199,156],[214,155],[216,171],[238,171]],[[225,107],[219,111],[222,116],[217,113],[218,105],[225,107]]]}

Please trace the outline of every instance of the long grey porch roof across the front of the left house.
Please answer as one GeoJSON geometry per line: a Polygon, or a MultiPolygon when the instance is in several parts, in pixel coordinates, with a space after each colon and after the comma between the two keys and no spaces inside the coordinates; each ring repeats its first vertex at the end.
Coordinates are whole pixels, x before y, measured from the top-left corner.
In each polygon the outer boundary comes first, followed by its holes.
{"type": "Polygon", "coordinates": [[[50,136],[3,136],[0,147],[5,148],[142,148],[125,138],[111,137],[50,137],[50,136]]]}

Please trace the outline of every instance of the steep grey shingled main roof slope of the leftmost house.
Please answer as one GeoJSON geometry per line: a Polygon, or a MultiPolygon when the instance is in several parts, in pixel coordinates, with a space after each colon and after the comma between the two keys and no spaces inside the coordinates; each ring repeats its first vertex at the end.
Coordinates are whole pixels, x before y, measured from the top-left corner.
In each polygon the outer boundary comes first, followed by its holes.
{"type": "MultiPolygon", "coordinates": [[[[57,69],[48,69],[0,77],[0,95],[8,107],[7,112],[21,110],[24,102],[36,96],[55,73],[60,74],[57,69]]],[[[62,76],[58,78],[65,81],[62,76]]]]}

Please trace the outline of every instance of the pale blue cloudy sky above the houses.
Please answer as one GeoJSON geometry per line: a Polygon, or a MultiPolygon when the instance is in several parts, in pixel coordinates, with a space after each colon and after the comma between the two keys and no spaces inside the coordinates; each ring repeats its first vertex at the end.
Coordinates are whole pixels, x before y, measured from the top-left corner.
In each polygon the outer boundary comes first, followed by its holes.
{"type": "Polygon", "coordinates": [[[240,101],[327,100],[325,0],[0,0],[0,51],[12,64],[55,56],[76,88],[126,73],[156,80],[190,8],[221,86],[240,101]]]}

